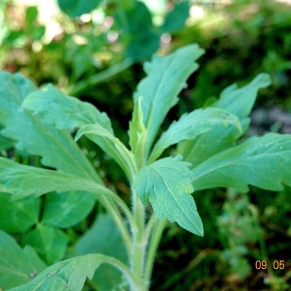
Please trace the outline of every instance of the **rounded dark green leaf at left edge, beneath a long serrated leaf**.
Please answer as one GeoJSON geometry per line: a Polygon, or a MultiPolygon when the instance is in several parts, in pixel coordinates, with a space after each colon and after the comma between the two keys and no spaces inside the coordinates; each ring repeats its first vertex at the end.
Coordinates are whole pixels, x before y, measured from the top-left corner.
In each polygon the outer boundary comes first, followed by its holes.
{"type": "Polygon", "coordinates": [[[23,233],[38,222],[40,199],[27,197],[12,200],[6,193],[0,193],[0,229],[12,233],[23,233]]]}

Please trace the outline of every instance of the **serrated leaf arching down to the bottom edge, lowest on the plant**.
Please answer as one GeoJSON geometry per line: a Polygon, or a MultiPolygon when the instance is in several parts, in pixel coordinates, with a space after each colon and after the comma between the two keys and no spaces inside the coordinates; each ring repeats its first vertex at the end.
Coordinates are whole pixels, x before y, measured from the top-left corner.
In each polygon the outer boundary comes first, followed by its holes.
{"type": "Polygon", "coordinates": [[[101,254],[67,259],[50,266],[32,282],[10,291],[81,291],[86,277],[92,278],[95,270],[106,260],[107,257],[101,254]]]}

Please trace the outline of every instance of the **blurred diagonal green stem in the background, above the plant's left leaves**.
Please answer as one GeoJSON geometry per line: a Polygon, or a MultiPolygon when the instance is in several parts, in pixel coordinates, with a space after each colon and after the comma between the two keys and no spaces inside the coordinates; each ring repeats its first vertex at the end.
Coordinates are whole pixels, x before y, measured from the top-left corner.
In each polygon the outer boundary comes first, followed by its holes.
{"type": "Polygon", "coordinates": [[[107,79],[113,77],[114,75],[124,71],[133,64],[131,59],[124,59],[118,64],[112,65],[109,68],[92,75],[88,79],[78,82],[68,94],[73,96],[79,96],[84,91],[96,86],[98,83],[106,81],[107,79]]]}

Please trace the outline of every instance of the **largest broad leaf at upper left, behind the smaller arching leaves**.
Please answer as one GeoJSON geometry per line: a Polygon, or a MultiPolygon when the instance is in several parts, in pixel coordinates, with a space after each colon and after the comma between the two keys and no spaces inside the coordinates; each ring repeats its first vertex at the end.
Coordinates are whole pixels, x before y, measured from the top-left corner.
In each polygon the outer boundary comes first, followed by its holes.
{"type": "Polygon", "coordinates": [[[32,81],[22,75],[0,71],[0,116],[5,127],[1,133],[16,140],[19,150],[42,156],[41,162],[46,166],[101,183],[68,131],[45,125],[23,110],[24,98],[35,90],[32,81]]]}

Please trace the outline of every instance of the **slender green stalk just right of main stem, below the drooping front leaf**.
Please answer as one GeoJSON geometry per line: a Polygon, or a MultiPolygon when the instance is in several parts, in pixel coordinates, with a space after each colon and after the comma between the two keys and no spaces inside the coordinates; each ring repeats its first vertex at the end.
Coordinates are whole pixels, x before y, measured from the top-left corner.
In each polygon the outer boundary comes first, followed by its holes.
{"type": "Polygon", "coordinates": [[[147,285],[149,285],[150,277],[154,266],[155,256],[157,253],[159,243],[161,241],[162,232],[166,224],[167,218],[163,216],[161,220],[156,222],[152,231],[152,235],[150,237],[146,256],[146,269],[145,269],[145,280],[147,285]]]}

